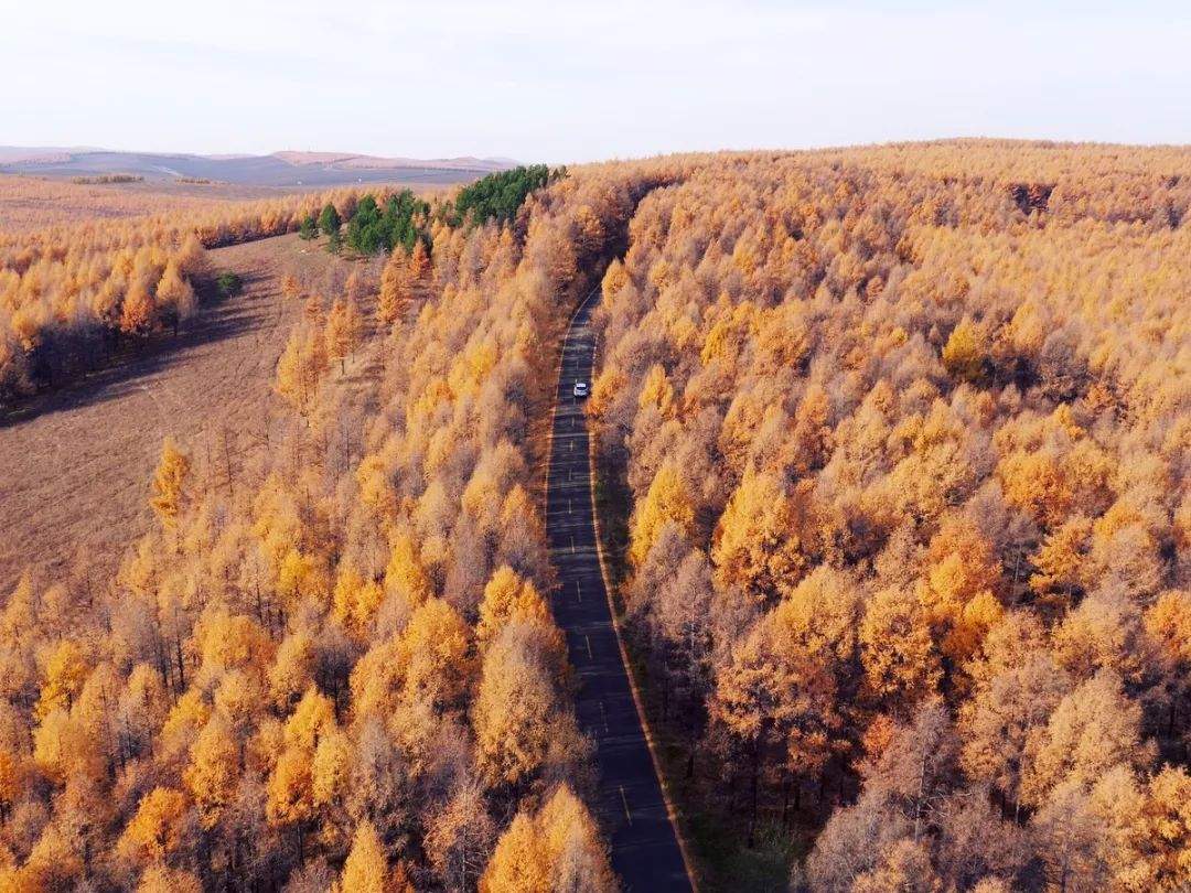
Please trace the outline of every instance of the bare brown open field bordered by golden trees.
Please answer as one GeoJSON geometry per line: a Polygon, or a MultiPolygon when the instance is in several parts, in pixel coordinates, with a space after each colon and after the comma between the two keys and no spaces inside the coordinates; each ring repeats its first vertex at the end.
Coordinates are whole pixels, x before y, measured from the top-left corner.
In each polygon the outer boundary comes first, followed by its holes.
{"type": "Polygon", "coordinates": [[[79,551],[110,567],[149,524],[167,435],[202,449],[226,427],[241,450],[263,443],[273,369],[303,306],[280,279],[294,269],[318,281],[336,261],[297,236],[208,257],[243,279],[239,295],[0,419],[0,595],[25,566],[52,572],[79,551]]]}

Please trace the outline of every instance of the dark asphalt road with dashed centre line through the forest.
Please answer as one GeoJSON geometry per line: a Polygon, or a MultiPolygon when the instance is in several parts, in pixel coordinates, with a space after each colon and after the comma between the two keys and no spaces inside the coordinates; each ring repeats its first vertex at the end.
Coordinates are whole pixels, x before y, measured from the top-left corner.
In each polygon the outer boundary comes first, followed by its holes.
{"type": "Polygon", "coordinates": [[[579,725],[596,742],[597,807],[611,833],[612,867],[630,893],[690,891],[621,660],[596,552],[587,429],[582,404],[572,388],[575,381],[591,381],[590,316],[598,296],[593,292],[575,313],[562,350],[547,487],[547,532],[560,580],[554,616],[566,632],[570,663],[581,680],[579,725]]]}

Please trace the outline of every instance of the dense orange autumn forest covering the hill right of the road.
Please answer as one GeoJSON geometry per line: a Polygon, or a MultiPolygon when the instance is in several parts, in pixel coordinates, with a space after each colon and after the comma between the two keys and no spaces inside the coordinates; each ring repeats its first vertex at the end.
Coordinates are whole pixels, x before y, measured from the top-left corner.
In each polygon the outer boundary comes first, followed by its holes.
{"type": "Polygon", "coordinates": [[[1189,200],[1184,150],[981,142],[725,157],[642,202],[590,412],[732,866],[1191,885],[1189,200]]]}

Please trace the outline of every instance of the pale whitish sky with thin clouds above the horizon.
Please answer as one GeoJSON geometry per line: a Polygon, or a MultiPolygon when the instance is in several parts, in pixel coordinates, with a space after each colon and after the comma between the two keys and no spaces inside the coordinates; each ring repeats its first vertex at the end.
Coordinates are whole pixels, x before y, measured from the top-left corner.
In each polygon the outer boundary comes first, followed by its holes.
{"type": "Polygon", "coordinates": [[[1191,143],[1183,0],[0,0],[0,144],[550,163],[1191,143]]]}

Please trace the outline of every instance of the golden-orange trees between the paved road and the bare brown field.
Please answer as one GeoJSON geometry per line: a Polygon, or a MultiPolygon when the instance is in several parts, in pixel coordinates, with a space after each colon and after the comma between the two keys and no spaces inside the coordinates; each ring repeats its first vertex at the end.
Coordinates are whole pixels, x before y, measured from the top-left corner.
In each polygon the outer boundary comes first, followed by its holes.
{"type": "Polygon", "coordinates": [[[23,580],[0,888],[615,888],[535,423],[584,270],[671,176],[555,183],[524,241],[434,221],[431,254],[308,296],[258,467],[167,443],[113,579],[23,580]]]}

